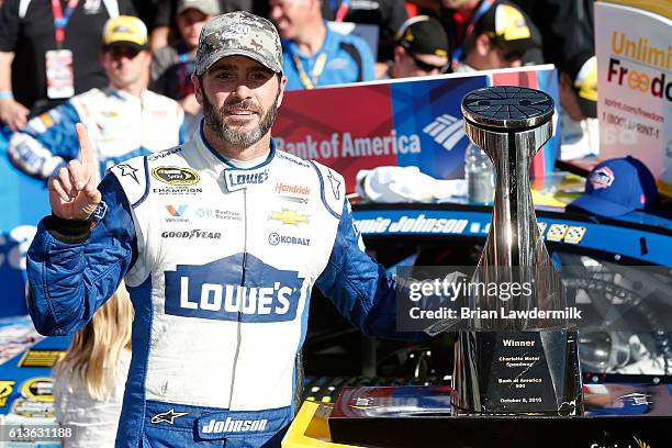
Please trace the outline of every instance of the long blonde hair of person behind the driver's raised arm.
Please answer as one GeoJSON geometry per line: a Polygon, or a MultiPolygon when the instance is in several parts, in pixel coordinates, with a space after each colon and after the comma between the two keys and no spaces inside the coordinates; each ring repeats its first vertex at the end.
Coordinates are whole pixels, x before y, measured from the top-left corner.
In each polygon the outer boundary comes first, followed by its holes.
{"type": "Polygon", "coordinates": [[[131,349],[133,305],[124,283],[79,329],[65,358],[56,366],[56,376],[67,376],[72,393],[72,377],[81,381],[89,395],[104,401],[113,392],[123,350],[131,349]]]}

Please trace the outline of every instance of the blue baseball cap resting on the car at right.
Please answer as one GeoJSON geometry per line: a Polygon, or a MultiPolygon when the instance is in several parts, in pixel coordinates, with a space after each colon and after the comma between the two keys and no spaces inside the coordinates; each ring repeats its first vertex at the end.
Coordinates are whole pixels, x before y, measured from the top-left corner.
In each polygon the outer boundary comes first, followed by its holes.
{"type": "Polygon", "coordinates": [[[605,160],[585,181],[585,192],[570,205],[602,216],[618,216],[653,204],[658,198],[651,171],[634,157],[605,160]]]}

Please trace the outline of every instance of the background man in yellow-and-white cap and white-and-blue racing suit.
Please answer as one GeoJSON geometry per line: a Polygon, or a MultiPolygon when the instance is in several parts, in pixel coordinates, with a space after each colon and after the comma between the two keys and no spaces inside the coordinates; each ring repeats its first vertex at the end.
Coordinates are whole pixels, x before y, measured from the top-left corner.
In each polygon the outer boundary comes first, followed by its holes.
{"type": "Polygon", "coordinates": [[[182,108],[146,89],[152,55],[139,19],[120,15],[108,21],[100,59],[110,79],[107,89],[72,97],[12,136],[9,155],[21,170],[46,179],[77,158],[75,123],[89,131],[101,177],[123,160],[184,141],[182,108]]]}

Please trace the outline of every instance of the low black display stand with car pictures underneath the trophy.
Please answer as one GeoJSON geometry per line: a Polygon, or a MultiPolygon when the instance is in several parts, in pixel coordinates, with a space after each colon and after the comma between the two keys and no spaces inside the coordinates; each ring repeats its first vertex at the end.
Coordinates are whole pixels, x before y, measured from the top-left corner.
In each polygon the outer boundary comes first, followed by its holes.
{"type": "Polygon", "coordinates": [[[576,416],[484,415],[458,412],[451,388],[345,388],[328,424],[338,444],[388,447],[667,446],[672,394],[667,384],[584,387],[576,416]]]}

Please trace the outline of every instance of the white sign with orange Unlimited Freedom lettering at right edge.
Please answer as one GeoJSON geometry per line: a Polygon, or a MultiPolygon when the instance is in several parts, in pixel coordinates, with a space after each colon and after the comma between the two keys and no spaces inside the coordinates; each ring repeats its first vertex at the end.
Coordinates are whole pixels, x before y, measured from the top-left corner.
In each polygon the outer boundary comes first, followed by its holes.
{"type": "Polygon", "coordinates": [[[600,157],[634,155],[672,192],[672,12],[628,3],[595,3],[600,157]]]}

